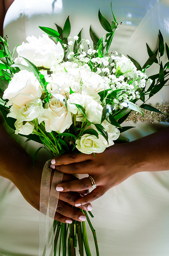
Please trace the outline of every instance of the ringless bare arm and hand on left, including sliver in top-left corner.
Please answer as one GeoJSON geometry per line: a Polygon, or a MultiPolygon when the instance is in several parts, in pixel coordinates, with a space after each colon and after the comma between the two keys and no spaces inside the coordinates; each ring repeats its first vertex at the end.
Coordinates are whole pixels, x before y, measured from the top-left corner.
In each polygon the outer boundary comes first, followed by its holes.
{"type": "MultiPolygon", "coordinates": [[[[14,0],[0,0],[0,31],[3,36],[3,22],[5,13],[14,0]]],[[[20,147],[15,140],[10,138],[0,124],[0,175],[11,180],[20,190],[26,201],[35,209],[40,208],[40,183],[44,163],[35,162],[33,167],[33,160],[27,155],[25,150],[20,147]],[[10,161],[9,161],[10,159],[10,161]]],[[[53,175],[53,173],[52,173],[53,175]]],[[[71,174],[64,174],[63,181],[71,181],[77,179],[71,174]]],[[[52,181],[52,178],[51,178],[52,181]]],[[[88,190],[80,192],[81,195],[86,195],[88,190]]],[[[85,214],[79,212],[65,203],[75,206],[75,201],[79,197],[77,192],[65,192],[59,196],[57,209],[55,212],[55,220],[66,223],[71,219],[81,221],[80,216],[85,218],[85,214]]],[[[86,204],[82,209],[88,211],[92,210],[91,204],[86,204]],[[89,208],[88,208],[89,207],[89,208]],[[88,209],[87,209],[88,208],[88,209]]],[[[85,220],[85,219],[83,219],[85,220]]]]}

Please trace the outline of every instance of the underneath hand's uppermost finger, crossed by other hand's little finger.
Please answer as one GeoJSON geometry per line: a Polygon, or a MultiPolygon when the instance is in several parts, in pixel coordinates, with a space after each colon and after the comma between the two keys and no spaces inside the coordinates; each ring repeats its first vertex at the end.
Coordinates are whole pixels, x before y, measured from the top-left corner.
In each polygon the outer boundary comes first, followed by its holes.
{"type": "MultiPolygon", "coordinates": [[[[79,198],[79,196],[79,193],[76,192],[63,192],[59,194],[59,199],[63,202],[75,206],[75,201],[79,198]]],[[[78,207],[78,205],[76,205],[76,207],[78,207]]],[[[93,209],[91,204],[84,204],[80,208],[85,211],[92,211],[93,209]]]]}

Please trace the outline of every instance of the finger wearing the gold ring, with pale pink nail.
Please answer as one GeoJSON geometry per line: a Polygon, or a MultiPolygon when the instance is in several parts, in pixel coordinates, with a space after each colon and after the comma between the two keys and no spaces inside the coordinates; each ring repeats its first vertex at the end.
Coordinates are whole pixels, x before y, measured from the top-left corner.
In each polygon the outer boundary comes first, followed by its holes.
{"type": "Polygon", "coordinates": [[[79,192],[89,188],[92,188],[92,182],[88,177],[85,177],[80,180],[72,180],[69,182],[60,183],[56,186],[56,190],[60,192],[68,192],[68,191],[79,192]]]}

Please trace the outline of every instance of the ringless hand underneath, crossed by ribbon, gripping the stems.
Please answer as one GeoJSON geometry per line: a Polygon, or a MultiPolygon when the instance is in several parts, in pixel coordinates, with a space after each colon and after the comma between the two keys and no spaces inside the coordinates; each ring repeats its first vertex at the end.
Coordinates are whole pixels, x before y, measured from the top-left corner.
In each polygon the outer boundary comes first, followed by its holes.
{"type": "MultiPolygon", "coordinates": [[[[40,162],[36,162],[34,168],[30,165],[29,170],[20,172],[15,181],[15,185],[18,187],[26,201],[38,211],[40,208],[40,183],[43,165],[44,164],[40,162]]],[[[52,178],[53,177],[51,175],[51,182],[52,178]]],[[[62,181],[67,182],[75,179],[77,178],[71,174],[64,174],[62,181]]],[[[80,193],[86,195],[88,190],[80,191],[80,193]]],[[[71,223],[71,218],[78,221],[86,220],[85,214],[73,209],[68,205],[71,204],[75,206],[75,201],[79,198],[79,196],[80,195],[77,192],[60,193],[55,213],[55,220],[59,220],[64,223],[71,223]]],[[[81,208],[85,211],[89,211],[92,210],[92,205],[85,204],[81,208]]]]}

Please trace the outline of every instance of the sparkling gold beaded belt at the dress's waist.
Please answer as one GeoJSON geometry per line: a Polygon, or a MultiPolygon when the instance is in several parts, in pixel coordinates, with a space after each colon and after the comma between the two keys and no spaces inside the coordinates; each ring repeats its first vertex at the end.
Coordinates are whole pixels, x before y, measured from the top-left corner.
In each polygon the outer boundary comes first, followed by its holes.
{"type": "Polygon", "coordinates": [[[128,123],[129,121],[133,121],[135,124],[138,120],[141,120],[142,122],[150,121],[152,124],[155,121],[169,122],[169,103],[164,102],[162,105],[157,103],[153,107],[160,110],[164,115],[142,108],[144,116],[142,116],[139,112],[132,111],[126,119],[126,122],[128,123]]]}

